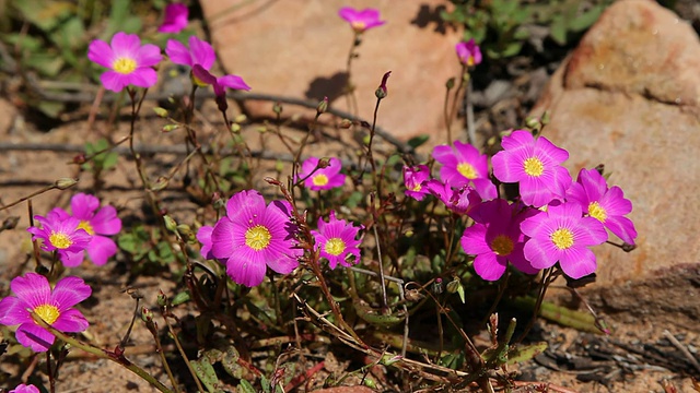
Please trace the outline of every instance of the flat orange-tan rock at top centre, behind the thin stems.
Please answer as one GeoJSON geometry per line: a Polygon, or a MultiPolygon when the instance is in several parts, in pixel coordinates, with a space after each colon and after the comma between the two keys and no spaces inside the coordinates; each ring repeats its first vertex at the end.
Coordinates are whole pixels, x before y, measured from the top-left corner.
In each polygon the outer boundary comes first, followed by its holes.
{"type": "MultiPolygon", "coordinates": [[[[307,98],[338,98],[347,81],[346,61],[353,33],[338,16],[341,7],[378,8],[386,24],[366,31],[352,62],[359,115],[371,119],[374,91],[392,71],[388,97],[382,102],[378,124],[407,140],[421,133],[443,143],[445,82],[460,66],[454,45],[459,33],[440,24],[444,1],[421,2],[310,0],[275,1],[260,5],[236,0],[200,2],[213,45],[228,72],[241,75],[254,93],[307,98]]],[[[246,104],[254,115],[271,115],[271,103],[246,104]]],[[[345,98],[334,107],[347,110],[345,98]]],[[[289,106],[284,114],[290,115],[289,106]]],[[[301,110],[301,109],[293,109],[301,110]]],[[[305,112],[313,111],[304,109],[305,112]]]]}

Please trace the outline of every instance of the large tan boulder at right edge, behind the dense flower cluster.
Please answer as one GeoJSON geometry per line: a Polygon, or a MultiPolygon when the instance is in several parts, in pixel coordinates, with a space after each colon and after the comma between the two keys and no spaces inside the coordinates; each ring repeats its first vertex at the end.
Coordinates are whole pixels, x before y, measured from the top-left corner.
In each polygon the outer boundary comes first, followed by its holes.
{"type": "MultiPolygon", "coordinates": [[[[639,247],[631,253],[596,248],[595,287],[641,283],[660,270],[673,275],[673,266],[699,263],[699,99],[700,43],[692,28],[656,2],[620,0],[555,73],[533,110],[550,111],[544,133],[570,152],[574,177],[581,167],[604,163],[609,182],[634,206],[639,247]]],[[[628,296],[635,300],[633,290],[628,296]]],[[[667,311],[686,306],[668,303],[667,311]]]]}

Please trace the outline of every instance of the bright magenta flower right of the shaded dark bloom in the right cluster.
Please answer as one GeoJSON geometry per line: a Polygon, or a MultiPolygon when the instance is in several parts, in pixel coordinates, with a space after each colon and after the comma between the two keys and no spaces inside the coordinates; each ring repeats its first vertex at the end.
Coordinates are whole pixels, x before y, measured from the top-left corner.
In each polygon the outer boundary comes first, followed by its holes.
{"type": "Polygon", "coordinates": [[[521,230],[530,238],[524,252],[533,267],[547,269],[559,262],[572,278],[595,272],[595,254],[588,247],[608,238],[599,221],[583,217],[581,205],[571,202],[549,205],[546,212],[523,221],[521,230]]]}

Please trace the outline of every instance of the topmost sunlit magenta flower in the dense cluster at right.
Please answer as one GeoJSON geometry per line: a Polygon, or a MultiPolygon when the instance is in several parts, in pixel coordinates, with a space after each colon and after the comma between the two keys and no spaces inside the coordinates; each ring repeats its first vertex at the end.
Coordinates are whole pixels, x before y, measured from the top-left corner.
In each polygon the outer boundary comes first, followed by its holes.
{"type": "Polygon", "coordinates": [[[515,130],[501,142],[491,163],[493,175],[503,182],[520,182],[521,199],[540,207],[555,199],[563,199],[571,184],[571,175],[560,164],[569,153],[546,138],[535,140],[529,131],[515,130]]]}

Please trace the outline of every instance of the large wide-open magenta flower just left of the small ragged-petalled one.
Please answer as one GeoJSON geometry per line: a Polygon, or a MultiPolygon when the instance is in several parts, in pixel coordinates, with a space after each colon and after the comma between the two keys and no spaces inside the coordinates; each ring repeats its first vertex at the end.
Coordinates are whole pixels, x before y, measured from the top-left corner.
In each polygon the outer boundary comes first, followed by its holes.
{"type": "Polygon", "coordinates": [[[266,206],[255,190],[231,196],[226,216],[211,231],[211,253],[225,261],[231,279],[253,287],[262,283],[266,266],[280,274],[296,269],[302,250],[295,248],[291,209],[287,201],[266,206]]]}

